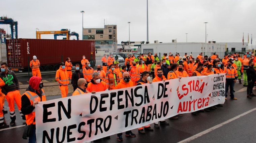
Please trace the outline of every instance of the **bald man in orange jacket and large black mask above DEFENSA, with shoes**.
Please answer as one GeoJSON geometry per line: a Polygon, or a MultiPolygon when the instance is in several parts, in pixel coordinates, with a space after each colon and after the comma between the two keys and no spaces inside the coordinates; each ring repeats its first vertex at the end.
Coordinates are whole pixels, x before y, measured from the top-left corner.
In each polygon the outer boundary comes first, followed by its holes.
{"type": "MultiPolygon", "coordinates": [[[[127,71],[125,71],[123,73],[122,80],[120,80],[118,85],[115,87],[115,90],[134,86],[133,82],[130,79],[131,79],[130,78],[130,74],[127,71]]],[[[118,133],[117,134],[117,140],[118,141],[122,141],[123,140],[122,135],[123,135],[123,133],[118,133]]],[[[125,132],[125,136],[136,137],[136,135],[133,134],[131,130],[130,131],[126,131],[125,132]]]]}

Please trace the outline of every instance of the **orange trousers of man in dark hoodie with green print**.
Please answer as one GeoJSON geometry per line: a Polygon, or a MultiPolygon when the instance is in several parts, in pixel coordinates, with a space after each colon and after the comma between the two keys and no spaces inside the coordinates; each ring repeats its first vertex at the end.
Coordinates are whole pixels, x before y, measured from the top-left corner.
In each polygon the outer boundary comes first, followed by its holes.
{"type": "Polygon", "coordinates": [[[11,120],[16,119],[16,115],[15,115],[15,112],[14,112],[14,101],[15,101],[16,105],[18,106],[18,109],[20,111],[20,115],[23,116],[23,114],[21,112],[21,94],[20,94],[20,91],[15,90],[15,91],[12,91],[12,92],[8,92],[5,97],[6,97],[6,100],[8,102],[11,120]]]}

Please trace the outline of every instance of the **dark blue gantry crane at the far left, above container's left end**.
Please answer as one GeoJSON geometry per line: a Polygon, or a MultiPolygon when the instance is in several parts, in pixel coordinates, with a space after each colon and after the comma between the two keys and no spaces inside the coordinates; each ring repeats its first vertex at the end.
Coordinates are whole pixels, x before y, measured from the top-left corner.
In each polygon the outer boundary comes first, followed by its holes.
{"type": "Polygon", "coordinates": [[[9,24],[11,28],[11,39],[14,37],[15,32],[15,38],[18,39],[18,22],[13,21],[11,18],[8,18],[7,16],[0,17],[0,24],[9,24]],[[15,29],[13,28],[15,26],[15,29]]]}

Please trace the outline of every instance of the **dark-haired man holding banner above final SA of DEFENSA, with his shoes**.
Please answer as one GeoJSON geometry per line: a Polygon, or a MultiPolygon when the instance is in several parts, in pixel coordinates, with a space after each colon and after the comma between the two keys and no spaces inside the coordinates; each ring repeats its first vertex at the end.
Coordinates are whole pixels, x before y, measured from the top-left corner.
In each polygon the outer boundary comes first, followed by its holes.
{"type": "MultiPolygon", "coordinates": [[[[144,71],[141,73],[141,78],[137,81],[137,85],[145,84],[145,83],[152,83],[150,82],[151,78],[149,76],[149,72],[144,71]]],[[[144,126],[145,130],[148,131],[154,131],[153,128],[150,127],[150,124],[147,126],[144,126]]],[[[140,134],[145,134],[145,131],[143,130],[143,127],[138,128],[138,132],[140,134]]]]}

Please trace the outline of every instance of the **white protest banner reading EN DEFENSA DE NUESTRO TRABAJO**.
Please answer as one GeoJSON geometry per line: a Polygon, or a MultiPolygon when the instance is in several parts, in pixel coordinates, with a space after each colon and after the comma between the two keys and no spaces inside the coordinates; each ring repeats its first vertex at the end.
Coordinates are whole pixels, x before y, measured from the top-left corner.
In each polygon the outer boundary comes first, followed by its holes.
{"type": "Polygon", "coordinates": [[[37,143],[85,143],[223,104],[225,79],[185,77],[39,102],[37,143]]]}

